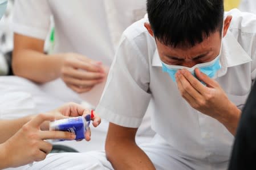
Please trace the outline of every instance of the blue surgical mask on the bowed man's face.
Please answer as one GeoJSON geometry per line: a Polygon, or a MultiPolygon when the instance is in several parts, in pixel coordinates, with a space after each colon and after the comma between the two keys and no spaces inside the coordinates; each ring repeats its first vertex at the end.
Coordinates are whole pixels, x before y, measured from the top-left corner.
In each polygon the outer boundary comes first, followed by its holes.
{"type": "MultiPolygon", "coordinates": [[[[221,48],[222,48],[222,44],[221,44],[221,48]]],[[[220,52],[220,55],[221,55],[221,52],[220,52]]],[[[170,78],[172,78],[174,82],[176,82],[175,74],[181,69],[188,70],[190,73],[192,73],[194,77],[196,77],[194,70],[196,68],[199,68],[202,73],[205,73],[208,77],[213,78],[218,72],[218,70],[221,69],[220,55],[218,55],[214,60],[208,63],[197,64],[197,65],[194,65],[192,68],[184,67],[180,65],[168,65],[162,62],[162,71],[168,73],[170,78]]]]}

